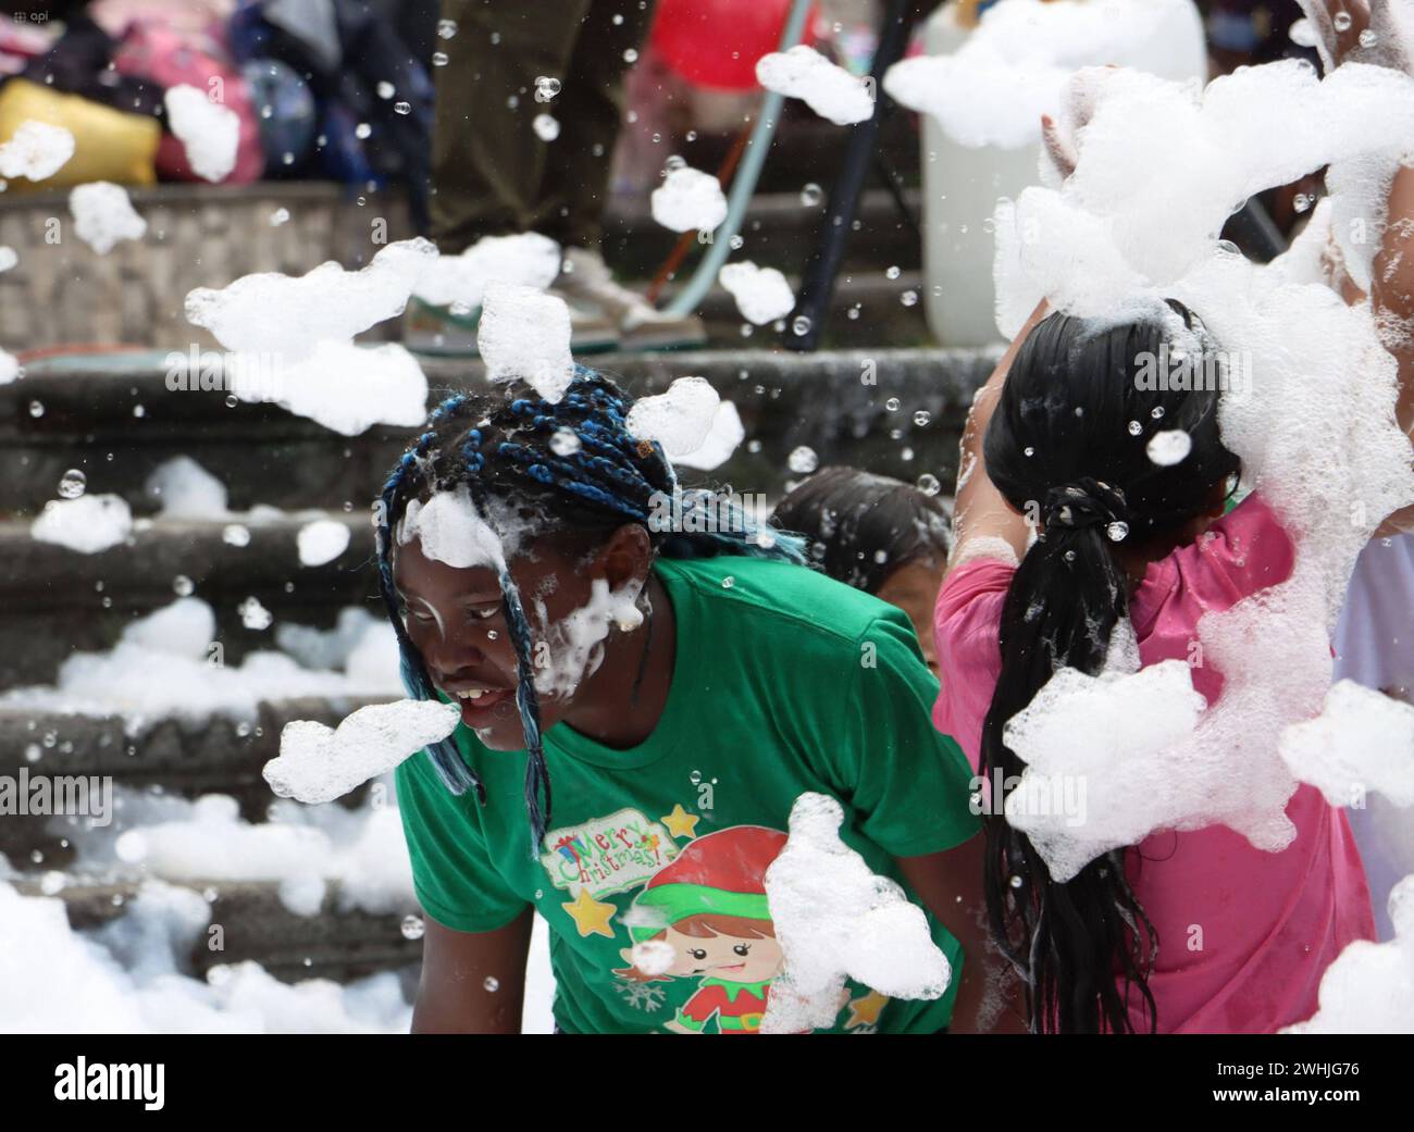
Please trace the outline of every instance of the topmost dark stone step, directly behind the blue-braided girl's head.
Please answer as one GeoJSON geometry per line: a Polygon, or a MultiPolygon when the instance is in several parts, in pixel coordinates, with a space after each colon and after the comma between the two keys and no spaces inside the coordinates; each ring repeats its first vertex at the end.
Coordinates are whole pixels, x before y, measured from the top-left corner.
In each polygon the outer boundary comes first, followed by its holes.
{"type": "MultiPolygon", "coordinates": [[[[909,480],[929,472],[950,483],[963,418],[998,353],[1000,348],[812,355],[737,349],[587,360],[636,394],[660,393],[682,375],[707,377],[735,403],[749,442],[710,476],[684,469],[684,480],[714,479],[738,492],[778,496],[790,479],[786,458],[797,445],[813,448],[822,464],[854,464],[909,480]],[[898,408],[891,411],[894,401],[898,408]],[[921,410],[929,414],[926,425],[915,424],[921,410]],[[908,448],[912,459],[905,458],[908,448]]],[[[484,387],[477,360],[430,359],[424,370],[433,400],[451,389],[484,387]]],[[[113,492],[134,509],[150,510],[147,476],[164,461],[189,455],[226,485],[235,510],[266,503],[339,512],[346,505],[358,533],[369,500],[413,431],[376,425],[342,437],[274,404],[228,407],[221,390],[171,391],[164,379],[160,355],[133,355],[96,367],[54,359],[0,386],[0,516],[37,514],[69,468],[88,476],[88,490],[113,492]],[[42,415],[31,415],[33,401],[44,407],[42,415]],[[133,415],[137,406],[141,417],[133,415]]],[[[79,555],[65,551],[47,558],[44,568],[68,570],[65,577],[72,577],[78,567],[65,568],[66,557],[79,555]]],[[[0,571],[11,582],[38,577],[8,564],[0,571]]],[[[281,571],[276,575],[284,578],[281,571]]]]}

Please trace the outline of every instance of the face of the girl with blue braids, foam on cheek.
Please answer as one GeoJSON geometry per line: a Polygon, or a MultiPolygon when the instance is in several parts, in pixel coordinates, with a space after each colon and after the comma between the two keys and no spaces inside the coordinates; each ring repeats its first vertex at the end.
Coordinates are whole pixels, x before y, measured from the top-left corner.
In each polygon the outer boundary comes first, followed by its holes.
{"type": "MultiPolygon", "coordinates": [[[[564,626],[583,622],[583,613],[577,619],[570,615],[591,605],[595,582],[601,591],[605,585],[632,588],[633,578],[625,574],[639,575],[641,581],[648,570],[646,536],[641,527],[619,529],[598,548],[592,541],[546,536],[509,564],[530,625],[533,660],[554,666],[557,657],[563,661],[568,654],[583,668],[567,674],[561,663],[553,687],[542,688],[542,731],[549,731],[583,697],[592,694],[585,677],[602,656],[602,650],[592,647],[578,652],[566,647],[564,626]],[[625,547],[632,553],[625,554],[625,547]]],[[[395,550],[393,584],[407,636],[433,684],[460,701],[462,722],[492,750],[523,749],[525,732],[515,700],[516,650],[496,571],[447,565],[428,557],[421,541],[413,538],[395,550]]]]}

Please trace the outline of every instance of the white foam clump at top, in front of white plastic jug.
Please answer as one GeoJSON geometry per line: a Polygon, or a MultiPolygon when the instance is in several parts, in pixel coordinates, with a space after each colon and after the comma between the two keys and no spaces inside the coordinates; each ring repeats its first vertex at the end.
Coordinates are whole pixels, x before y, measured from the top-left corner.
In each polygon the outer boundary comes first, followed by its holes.
{"type": "Polygon", "coordinates": [[[1181,78],[1206,71],[1189,0],[1008,0],[983,14],[950,55],[894,64],[884,89],[933,116],[960,146],[1021,148],[1041,137],[1069,75],[1118,64],[1181,78]]]}

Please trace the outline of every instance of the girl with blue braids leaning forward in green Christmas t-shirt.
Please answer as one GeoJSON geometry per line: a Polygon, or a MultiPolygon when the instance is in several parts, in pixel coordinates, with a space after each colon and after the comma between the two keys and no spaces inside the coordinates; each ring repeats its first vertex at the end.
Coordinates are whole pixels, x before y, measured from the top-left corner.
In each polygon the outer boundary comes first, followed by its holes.
{"type": "Polygon", "coordinates": [[[937,684],[912,627],[731,496],[682,490],[631,408],[585,369],[556,403],[522,386],[448,397],[376,506],[409,691],[461,705],[451,738],[397,770],[427,913],[414,1029],[519,1030],[533,912],[564,1032],[714,1033],[751,1015],[775,969],[752,957],[773,943],[771,862],[707,835],[783,831],[807,791],[841,801],[844,842],[925,904],[960,972],[935,1001],[851,984],[833,1029],[935,1033],[954,1005],[954,1026],[977,1025],[983,972],[962,948],[980,947],[978,823],[966,760],[929,724],[937,684]],[[680,893],[701,913],[670,937],[684,978],[625,975],[663,958],[636,896],[655,878],[677,893],[669,866],[690,845],[693,876],[715,880],[680,893]],[[749,933],[728,930],[742,892],[762,904],[749,933]],[[704,988],[723,1009],[679,1025],[704,988]]]}

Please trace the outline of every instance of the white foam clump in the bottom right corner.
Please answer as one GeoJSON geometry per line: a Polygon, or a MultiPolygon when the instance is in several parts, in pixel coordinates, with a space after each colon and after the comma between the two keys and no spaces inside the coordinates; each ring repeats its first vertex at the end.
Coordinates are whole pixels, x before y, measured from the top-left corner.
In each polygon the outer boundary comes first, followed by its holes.
{"type": "Polygon", "coordinates": [[[1346,944],[1321,977],[1319,1009],[1282,1033],[1414,1033],[1414,876],[1389,907],[1394,938],[1346,944]]]}

